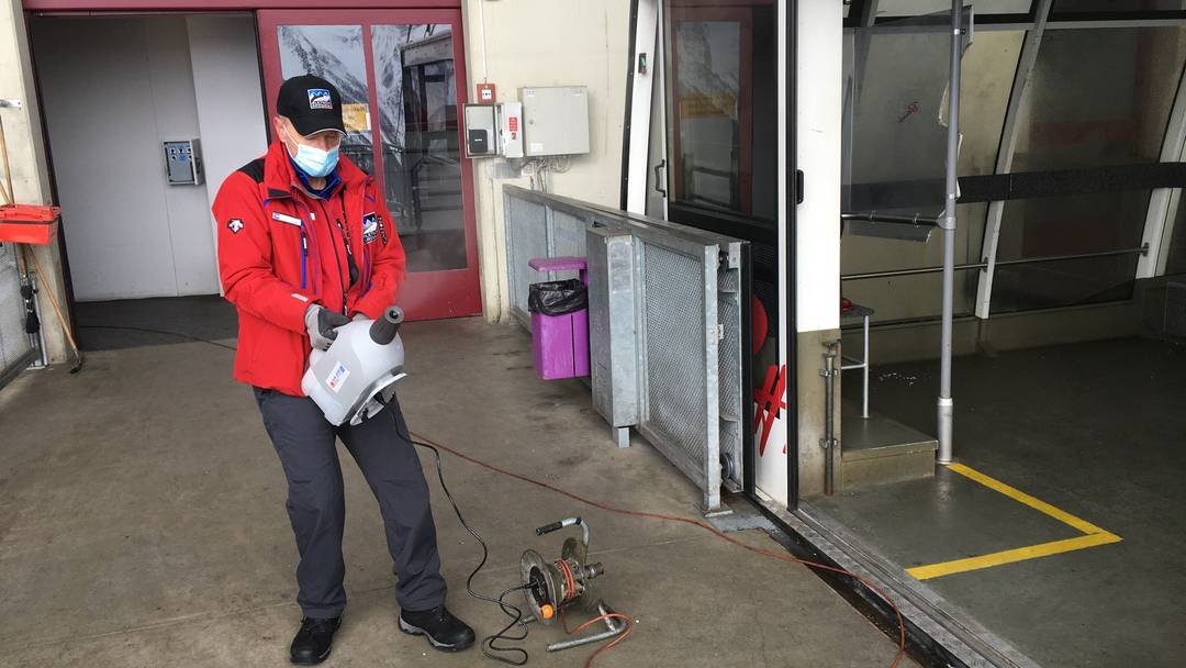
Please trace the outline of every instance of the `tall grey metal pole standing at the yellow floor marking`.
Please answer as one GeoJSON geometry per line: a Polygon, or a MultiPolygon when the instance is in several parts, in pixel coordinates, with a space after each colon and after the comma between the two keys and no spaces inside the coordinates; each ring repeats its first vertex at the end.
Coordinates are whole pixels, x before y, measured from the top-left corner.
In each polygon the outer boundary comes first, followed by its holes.
{"type": "Polygon", "coordinates": [[[951,421],[951,314],[955,308],[956,263],[956,167],[959,160],[959,57],[963,51],[963,0],[951,0],[951,78],[948,83],[948,198],[939,227],[943,228],[943,343],[939,351],[939,464],[950,464],[951,421]]]}

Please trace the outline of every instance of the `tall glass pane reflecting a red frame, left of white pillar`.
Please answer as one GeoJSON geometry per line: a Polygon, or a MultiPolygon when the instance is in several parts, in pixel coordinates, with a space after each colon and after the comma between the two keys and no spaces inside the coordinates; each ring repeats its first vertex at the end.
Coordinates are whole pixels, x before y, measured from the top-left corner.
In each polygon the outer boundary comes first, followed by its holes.
{"type": "Polygon", "coordinates": [[[774,8],[671,7],[668,147],[674,201],[778,212],[774,8]]]}

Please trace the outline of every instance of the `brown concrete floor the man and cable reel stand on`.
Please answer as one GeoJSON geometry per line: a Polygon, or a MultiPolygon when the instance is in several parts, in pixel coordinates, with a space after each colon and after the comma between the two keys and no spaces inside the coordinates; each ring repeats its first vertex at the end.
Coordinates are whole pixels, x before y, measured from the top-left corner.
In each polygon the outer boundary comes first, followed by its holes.
{"type": "MultiPolygon", "coordinates": [[[[108,316],[100,308],[88,320],[108,316]]],[[[286,666],[300,619],[295,547],[285,479],[250,390],[230,380],[228,350],[142,335],[134,348],[93,350],[76,376],[26,373],[0,390],[2,663],[286,666]]],[[[88,338],[90,348],[127,343],[88,338]]],[[[417,323],[404,341],[412,375],[400,396],[414,431],[624,507],[694,514],[693,485],[643,443],[614,448],[580,383],[534,377],[522,331],[417,323]]],[[[432,475],[431,458],[422,463],[432,475]]],[[[604,596],[637,619],[597,666],[875,667],[894,656],[886,636],[803,567],[691,527],[591,510],[455,459],[445,466],[491,545],[482,591],[515,585],[524,548],[559,551],[556,534],[538,539],[534,527],[574,514],[591,523],[604,596]]],[[[378,511],[357,469],[343,467],[350,604],[326,664],[495,666],[477,650],[440,654],[396,630],[378,511]]],[[[435,479],[429,486],[449,606],[479,635],[492,632],[502,615],[464,591],[477,546],[435,479]]],[[[740,535],[776,547],[761,532],[740,535]]],[[[580,666],[582,649],[543,653],[559,637],[533,629],[530,666],[580,666]]]]}

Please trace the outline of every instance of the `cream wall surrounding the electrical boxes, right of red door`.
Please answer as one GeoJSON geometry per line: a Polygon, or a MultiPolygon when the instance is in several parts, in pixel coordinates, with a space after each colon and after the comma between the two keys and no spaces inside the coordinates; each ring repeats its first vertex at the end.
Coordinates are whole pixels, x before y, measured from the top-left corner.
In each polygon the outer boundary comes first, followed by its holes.
{"type": "MultiPolygon", "coordinates": [[[[517,100],[521,87],[588,87],[591,152],[574,158],[567,173],[554,174],[551,191],[617,208],[630,2],[466,0],[464,12],[470,98],[483,81],[497,84],[504,102],[517,100]]],[[[491,176],[493,164],[474,161],[483,305],[489,322],[509,317],[502,185],[528,185],[527,178],[491,176]]]]}

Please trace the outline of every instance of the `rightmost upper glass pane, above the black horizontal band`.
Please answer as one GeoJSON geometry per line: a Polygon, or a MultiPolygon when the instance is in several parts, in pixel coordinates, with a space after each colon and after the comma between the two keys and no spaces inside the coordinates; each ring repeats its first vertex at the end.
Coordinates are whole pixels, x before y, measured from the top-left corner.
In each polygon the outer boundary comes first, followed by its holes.
{"type": "Polygon", "coordinates": [[[1026,88],[1013,171],[1154,163],[1186,28],[1052,30],[1026,88]]]}

